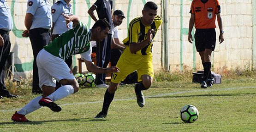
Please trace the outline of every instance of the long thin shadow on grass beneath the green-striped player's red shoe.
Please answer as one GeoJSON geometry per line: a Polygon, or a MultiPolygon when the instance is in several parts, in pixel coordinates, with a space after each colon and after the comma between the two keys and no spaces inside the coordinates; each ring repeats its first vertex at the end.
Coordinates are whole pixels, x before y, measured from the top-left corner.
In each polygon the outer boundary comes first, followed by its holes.
{"type": "Polygon", "coordinates": [[[77,119],[66,119],[66,120],[48,120],[48,121],[29,121],[29,122],[0,122],[0,125],[6,125],[6,124],[32,124],[32,125],[36,125],[36,124],[43,124],[46,122],[60,122],[60,121],[83,121],[83,122],[88,122],[88,121],[107,121],[106,119],[91,119],[91,118],[77,118],[77,119]]]}

